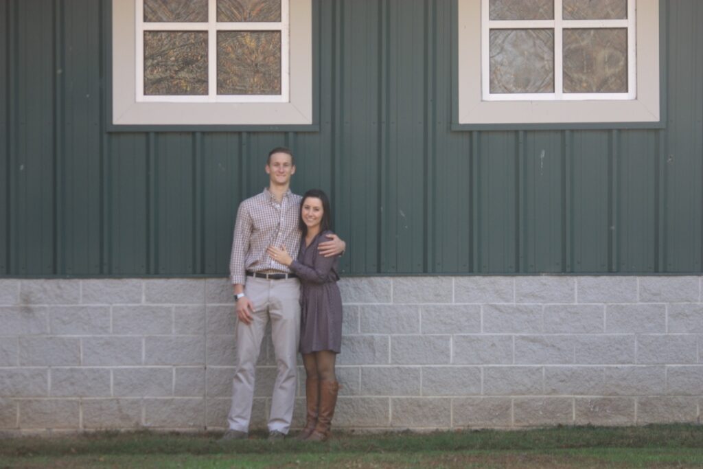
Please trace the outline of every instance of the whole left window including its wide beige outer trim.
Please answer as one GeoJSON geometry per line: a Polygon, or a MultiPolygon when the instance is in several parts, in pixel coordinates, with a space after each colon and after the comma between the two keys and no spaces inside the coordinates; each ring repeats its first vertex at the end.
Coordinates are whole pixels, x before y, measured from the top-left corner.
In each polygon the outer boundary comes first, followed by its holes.
{"type": "Polygon", "coordinates": [[[112,129],[309,129],[312,87],[311,0],[112,2],[112,129]]]}

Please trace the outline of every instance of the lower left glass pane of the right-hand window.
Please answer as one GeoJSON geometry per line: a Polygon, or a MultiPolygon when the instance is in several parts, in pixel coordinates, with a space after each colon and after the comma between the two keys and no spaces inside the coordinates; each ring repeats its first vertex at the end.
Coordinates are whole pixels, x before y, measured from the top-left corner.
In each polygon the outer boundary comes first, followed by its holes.
{"type": "Polygon", "coordinates": [[[554,30],[491,30],[491,93],[553,93],[554,30]]]}

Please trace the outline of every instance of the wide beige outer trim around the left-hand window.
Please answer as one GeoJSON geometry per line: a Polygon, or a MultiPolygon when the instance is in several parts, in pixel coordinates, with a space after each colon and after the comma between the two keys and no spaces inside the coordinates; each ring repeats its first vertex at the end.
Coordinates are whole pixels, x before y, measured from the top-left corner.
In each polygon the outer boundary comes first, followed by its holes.
{"type": "MultiPolygon", "coordinates": [[[[288,67],[282,63],[282,70],[288,68],[288,96],[285,100],[279,98],[275,102],[250,102],[250,98],[237,96],[225,98],[220,96],[217,101],[211,101],[210,96],[198,96],[193,101],[173,99],[169,101],[152,99],[153,96],[141,97],[138,93],[138,82],[143,83],[143,76],[138,77],[137,34],[138,5],[142,0],[112,0],[112,112],[110,129],[131,130],[138,126],[216,126],[216,127],[247,127],[269,128],[271,126],[295,126],[296,129],[314,129],[317,125],[314,113],[313,89],[313,31],[312,31],[312,0],[285,0],[288,4],[288,53],[281,56],[282,61],[288,62],[288,67]],[[205,99],[203,99],[205,98],[205,99]],[[190,102],[188,102],[190,101],[190,102]]],[[[209,10],[209,18],[216,13],[209,10]]],[[[283,12],[282,12],[283,13],[283,12]]],[[[154,23],[150,23],[153,25],[154,23]]],[[[179,30],[188,23],[177,24],[179,30]]],[[[194,29],[203,30],[200,25],[205,23],[190,23],[194,29]]],[[[232,23],[220,23],[220,25],[232,23]]],[[[241,27],[251,30],[248,23],[241,27]]],[[[266,30],[272,30],[271,23],[266,30]]],[[[213,39],[209,37],[209,53],[217,47],[212,47],[213,39]]],[[[283,43],[283,37],[282,43],[283,43]]],[[[141,47],[139,49],[142,49],[141,47]]],[[[143,63],[143,60],[142,60],[143,63]]],[[[209,58],[209,66],[217,60],[209,58]]],[[[142,72],[143,73],[143,72],[142,72]]],[[[213,74],[209,73],[209,80],[213,74]]],[[[217,79],[217,74],[214,74],[217,79]]],[[[208,91],[212,90],[212,83],[208,91]]],[[[216,90],[217,88],[215,88],[216,90]]],[[[254,99],[258,99],[254,98],[254,99]]]]}

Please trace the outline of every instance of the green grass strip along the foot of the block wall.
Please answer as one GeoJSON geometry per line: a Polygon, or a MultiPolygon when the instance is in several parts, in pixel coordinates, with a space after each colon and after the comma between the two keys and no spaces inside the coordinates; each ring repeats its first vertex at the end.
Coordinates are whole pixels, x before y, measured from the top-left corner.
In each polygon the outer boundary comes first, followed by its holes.
{"type": "Polygon", "coordinates": [[[264,434],[98,432],[0,440],[0,468],[702,468],[703,426],[559,427],[375,435],[323,444],[264,434]]]}

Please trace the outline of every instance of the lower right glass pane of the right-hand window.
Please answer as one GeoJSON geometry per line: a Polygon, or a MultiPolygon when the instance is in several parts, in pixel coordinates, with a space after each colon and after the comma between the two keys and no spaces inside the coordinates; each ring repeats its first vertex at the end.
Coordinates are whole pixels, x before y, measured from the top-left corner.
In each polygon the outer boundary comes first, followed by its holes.
{"type": "Polygon", "coordinates": [[[627,93],[627,30],[564,30],[565,93],[627,93]]]}

